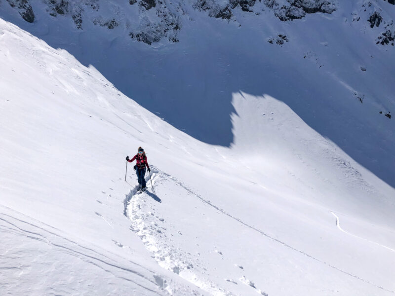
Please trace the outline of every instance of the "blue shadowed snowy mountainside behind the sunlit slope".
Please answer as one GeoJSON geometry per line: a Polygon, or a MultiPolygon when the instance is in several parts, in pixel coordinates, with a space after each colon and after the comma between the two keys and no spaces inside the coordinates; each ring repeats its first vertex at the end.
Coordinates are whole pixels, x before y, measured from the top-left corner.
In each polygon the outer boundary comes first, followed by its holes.
{"type": "Polygon", "coordinates": [[[395,186],[393,1],[1,0],[0,17],[205,143],[234,143],[233,93],[266,93],[395,186]]]}

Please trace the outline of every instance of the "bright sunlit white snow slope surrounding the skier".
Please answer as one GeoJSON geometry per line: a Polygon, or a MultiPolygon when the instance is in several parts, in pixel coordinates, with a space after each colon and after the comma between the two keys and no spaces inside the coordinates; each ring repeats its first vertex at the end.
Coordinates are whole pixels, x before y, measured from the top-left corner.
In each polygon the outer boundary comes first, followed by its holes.
{"type": "Polygon", "coordinates": [[[394,188],[283,102],[234,93],[226,148],[3,20],[0,65],[1,294],[395,294],[394,188]]]}

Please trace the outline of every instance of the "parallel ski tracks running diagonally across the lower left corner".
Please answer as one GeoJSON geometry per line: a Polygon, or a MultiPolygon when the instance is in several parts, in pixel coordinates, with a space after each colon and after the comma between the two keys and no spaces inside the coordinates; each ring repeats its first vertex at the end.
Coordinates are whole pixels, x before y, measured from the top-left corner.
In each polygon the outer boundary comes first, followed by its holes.
{"type": "MultiPolygon", "coordinates": [[[[18,215],[25,217],[25,215],[16,212],[8,207],[2,205],[1,207],[8,211],[15,212],[16,213],[15,216],[18,215]]],[[[25,217],[25,220],[34,220],[34,219],[30,217],[25,217]]],[[[140,272],[121,266],[120,264],[118,264],[119,262],[118,260],[111,259],[110,257],[104,254],[101,254],[93,249],[84,247],[73,240],[70,240],[64,236],[55,233],[54,231],[59,231],[59,230],[50,225],[47,225],[39,221],[27,222],[25,220],[18,219],[16,217],[7,215],[5,213],[0,213],[0,222],[9,225],[9,226],[0,225],[0,227],[6,229],[6,231],[8,232],[16,231],[27,238],[38,240],[45,244],[49,244],[53,247],[56,247],[61,252],[65,252],[69,255],[77,257],[89,264],[92,264],[94,266],[103,269],[105,272],[111,273],[114,277],[118,277],[125,281],[132,282],[135,285],[149,292],[160,295],[159,291],[152,290],[144,284],[144,282],[149,282],[151,286],[154,287],[154,286],[158,286],[158,283],[150,278],[147,278],[140,272]],[[41,226],[38,226],[34,223],[41,224],[41,226]],[[27,228],[31,228],[31,229],[27,229],[27,228]],[[53,231],[50,231],[46,228],[51,228],[53,229],[53,231]],[[132,279],[133,277],[137,277],[137,278],[132,279]]],[[[149,270],[148,268],[130,260],[127,261],[127,264],[128,265],[133,264],[135,266],[138,266],[139,268],[148,270],[151,273],[155,273],[153,270],[149,270]]]]}

